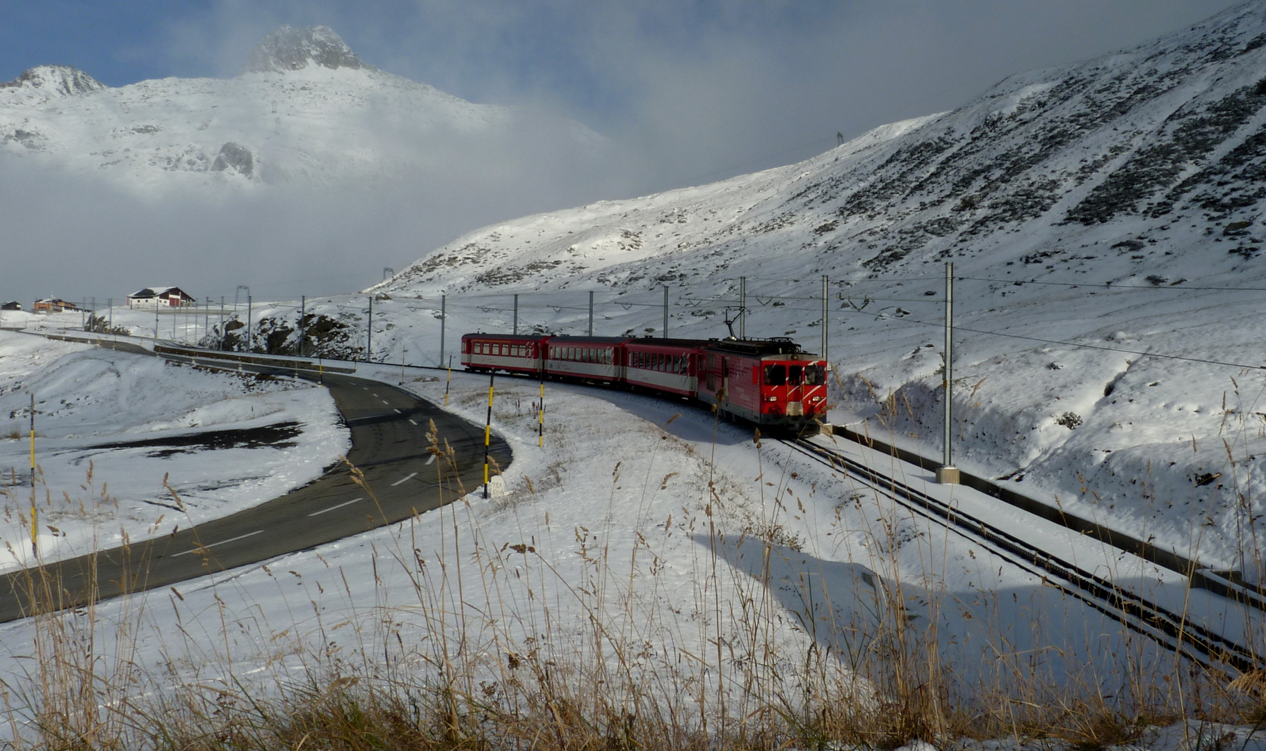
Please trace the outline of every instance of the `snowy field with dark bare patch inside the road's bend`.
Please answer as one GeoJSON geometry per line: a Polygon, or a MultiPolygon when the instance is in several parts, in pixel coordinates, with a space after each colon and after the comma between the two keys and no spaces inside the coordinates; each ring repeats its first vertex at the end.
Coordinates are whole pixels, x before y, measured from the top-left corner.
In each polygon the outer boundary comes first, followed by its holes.
{"type": "Polygon", "coordinates": [[[305,381],[0,332],[0,571],[30,560],[32,396],[44,560],[249,508],[351,445],[329,393],[305,381]]]}

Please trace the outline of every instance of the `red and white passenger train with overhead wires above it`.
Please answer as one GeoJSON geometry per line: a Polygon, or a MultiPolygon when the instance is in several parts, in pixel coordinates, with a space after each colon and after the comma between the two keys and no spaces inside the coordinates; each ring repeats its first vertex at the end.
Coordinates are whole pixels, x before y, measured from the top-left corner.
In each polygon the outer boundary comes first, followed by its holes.
{"type": "Polygon", "coordinates": [[[800,432],[827,418],[825,361],[784,338],[475,333],[462,337],[462,366],[671,394],[765,428],[800,432]]]}

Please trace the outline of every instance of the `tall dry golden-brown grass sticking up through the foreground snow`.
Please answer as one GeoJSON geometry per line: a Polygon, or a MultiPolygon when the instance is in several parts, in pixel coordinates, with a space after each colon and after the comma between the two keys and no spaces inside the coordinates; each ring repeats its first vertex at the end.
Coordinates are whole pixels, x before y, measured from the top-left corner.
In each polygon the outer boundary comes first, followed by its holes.
{"type": "MultiPolygon", "coordinates": [[[[523,407],[515,414],[530,413],[523,407]]],[[[430,451],[441,460],[434,462],[441,481],[461,499],[452,450],[432,436],[430,451]]],[[[1123,640],[1132,653],[1106,674],[1071,670],[1058,656],[1027,661],[1001,633],[991,636],[996,660],[989,669],[968,675],[943,664],[934,610],[941,605],[912,619],[913,599],[928,590],[904,585],[900,570],[903,546],[927,545],[927,524],[898,512],[879,521],[872,540],[886,570],[877,584],[871,580],[872,600],[860,607],[870,617],[823,618],[827,591],[803,575],[790,584],[804,598],[795,612],[775,596],[789,586],[776,579],[780,556],[801,547],[786,532],[794,513],[781,491],[786,470],[770,485],[730,488],[710,474],[705,457],[682,453],[698,462],[700,475],[690,481],[703,493],[689,531],[708,542],[695,560],[693,612],[676,618],[642,621],[644,600],[663,596],[656,580],[662,541],[642,538],[629,562],[613,557],[598,534],[577,531],[584,575],[563,577],[527,538],[503,546],[485,540],[461,500],[438,513],[447,531],[438,560],[419,552],[419,518],[403,526],[387,550],[375,551],[375,586],[385,590],[382,567],[391,566],[408,577],[414,602],[390,604],[382,591],[380,605],[360,621],[325,623],[318,613],[318,627],[304,638],[265,626],[267,638],[258,641],[276,656],[263,671],[251,664],[239,672],[227,661],[215,680],[189,678],[189,651],[208,647],[195,646],[184,627],[184,636],[163,647],[163,669],[144,667],[138,657],[147,608],[170,602],[181,613],[179,591],[166,600],[153,593],[127,599],[106,623],[95,603],[63,610],[65,595],[47,570],[29,570],[23,589],[34,605],[30,669],[0,678],[8,745],[23,751],[885,750],[914,738],[1044,737],[1090,750],[1179,718],[1266,717],[1266,674],[1228,685],[1218,669],[1176,665],[1172,680],[1156,680],[1137,640],[1123,640]],[[912,536],[912,528],[924,532],[912,536]],[[760,562],[737,570],[739,550],[758,551],[760,562]],[[567,612],[584,614],[584,627],[567,612]],[[793,631],[800,636],[789,638],[793,631]],[[286,659],[291,667],[281,667],[286,659]]],[[[495,510],[530,507],[538,493],[562,483],[561,470],[536,485],[524,481],[495,510]]],[[[611,485],[618,483],[619,469],[611,485]]],[[[667,483],[652,481],[647,493],[667,483]]],[[[862,500],[842,502],[837,518],[844,504],[862,500]]],[[[434,519],[428,515],[428,526],[434,519]]],[[[685,524],[666,523],[665,533],[685,524]]],[[[346,577],[343,588],[352,603],[346,577]]],[[[219,594],[215,600],[216,633],[228,645],[241,624],[225,615],[219,594]]],[[[1128,633],[1124,624],[1122,632],[1128,633]]]]}

